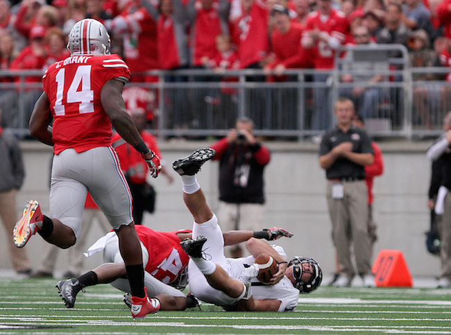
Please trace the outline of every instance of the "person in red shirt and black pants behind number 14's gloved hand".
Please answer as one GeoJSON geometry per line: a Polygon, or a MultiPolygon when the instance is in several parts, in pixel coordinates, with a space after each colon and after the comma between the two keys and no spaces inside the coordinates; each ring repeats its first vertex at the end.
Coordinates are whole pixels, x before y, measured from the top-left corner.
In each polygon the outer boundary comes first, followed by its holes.
{"type": "MultiPolygon", "coordinates": [[[[155,137],[144,130],[144,127],[146,126],[146,114],[144,113],[144,110],[137,108],[135,110],[128,110],[128,112],[131,114],[139,134],[142,139],[144,139],[144,143],[146,143],[148,148],[153,150],[161,159],[162,155],[157,146],[155,137]]],[[[117,141],[117,139],[120,138],[121,136],[116,133],[113,135],[111,141],[114,143],[114,141],[117,141]]],[[[146,182],[148,173],[147,163],[144,161],[141,153],[136,151],[133,146],[130,146],[128,143],[118,146],[116,151],[119,157],[119,162],[121,163],[121,169],[126,176],[128,187],[130,187],[130,192],[133,198],[133,221],[135,222],[135,225],[141,225],[144,210],[146,208],[148,209],[149,205],[149,203],[146,203],[146,201],[148,201],[148,198],[146,198],[146,193],[151,191],[151,186],[146,182]]],[[[173,178],[164,166],[162,167],[161,173],[167,178],[169,184],[171,184],[173,178]]]]}

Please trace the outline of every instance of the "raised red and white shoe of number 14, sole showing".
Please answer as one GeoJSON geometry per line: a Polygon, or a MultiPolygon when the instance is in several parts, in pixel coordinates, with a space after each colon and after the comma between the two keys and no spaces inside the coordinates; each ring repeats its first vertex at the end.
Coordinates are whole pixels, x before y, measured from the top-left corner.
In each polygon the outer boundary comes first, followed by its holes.
{"type": "Polygon", "coordinates": [[[14,244],[18,248],[25,246],[31,235],[36,234],[42,228],[43,218],[39,203],[36,200],[28,201],[22,218],[17,221],[14,230],[12,230],[14,244]]]}

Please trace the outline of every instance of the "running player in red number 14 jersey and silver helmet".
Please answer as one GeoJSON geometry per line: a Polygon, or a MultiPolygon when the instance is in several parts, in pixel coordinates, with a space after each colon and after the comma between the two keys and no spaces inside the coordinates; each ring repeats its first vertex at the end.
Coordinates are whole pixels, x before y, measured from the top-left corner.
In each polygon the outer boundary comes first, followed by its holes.
{"type": "MultiPolygon", "coordinates": [[[[149,150],[126,112],[122,89],[130,78],[126,63],[110,54],[105,26],[94,19],[77,22],[69,33],[71,56],[42,77],[44,93],[30,119],[31,135],[53,146],[50,213],[42,215],[31,200],[13,231],[16,246],[36,232],[47,242],[69,248],[81,230],[87,191],[117,233],[132,291],[132,316],[160,309],[144,288],[144,267],[132,218],[130,191],[111,144],[111,126],[142,153],[154,178],[160,159],[149,150]],[[53,128],[49,128],[53,120],[53,128]]],[[[70,289],[70,288],[69,288],[70,289]]]]}

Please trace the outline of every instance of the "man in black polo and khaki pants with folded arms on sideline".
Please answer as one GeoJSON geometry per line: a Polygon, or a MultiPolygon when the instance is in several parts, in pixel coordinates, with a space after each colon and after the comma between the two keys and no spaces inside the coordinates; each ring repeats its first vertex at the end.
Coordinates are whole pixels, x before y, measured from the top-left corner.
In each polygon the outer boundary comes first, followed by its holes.
{"type": "Polygon", "coordinates": [[[374,286],[371,275],[371,242],[368,238],[368,190],[365,165],[373,164],[373,147],[365,130],[352,128],[354,104],[339,98],[334,105],[337,127],[321,140],[319,163],[327,178],[327,207],[332,239],[337,248],[340,275],[334,286],[349,286],[354,277],[350,243],[364,286],[374,286]]]}

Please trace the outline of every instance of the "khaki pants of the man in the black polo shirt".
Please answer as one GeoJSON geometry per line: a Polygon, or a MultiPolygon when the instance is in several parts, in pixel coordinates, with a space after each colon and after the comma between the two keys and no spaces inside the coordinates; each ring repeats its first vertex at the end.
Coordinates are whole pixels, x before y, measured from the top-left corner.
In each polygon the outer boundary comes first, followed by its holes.
{"type": "Polygon", "coordinates": [[[332,221],[332,240],[337,249],[340,273],[354,277],[351,242],[359,275],[371,273],[371,242],[368,237],[368,191],[364,180],[343,182],[343,198],[332,198],[332,184],[327,182],[327,207],[332,221]]]}

